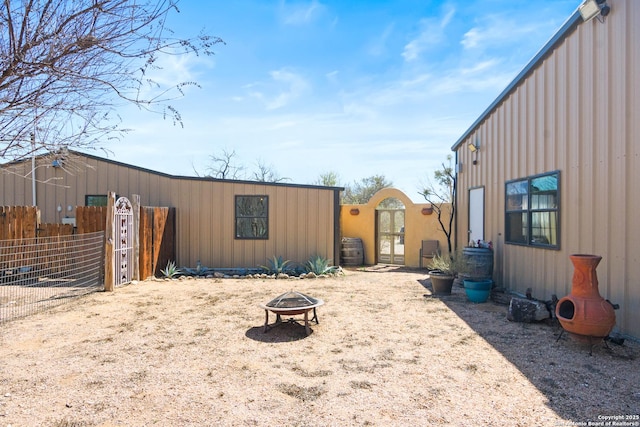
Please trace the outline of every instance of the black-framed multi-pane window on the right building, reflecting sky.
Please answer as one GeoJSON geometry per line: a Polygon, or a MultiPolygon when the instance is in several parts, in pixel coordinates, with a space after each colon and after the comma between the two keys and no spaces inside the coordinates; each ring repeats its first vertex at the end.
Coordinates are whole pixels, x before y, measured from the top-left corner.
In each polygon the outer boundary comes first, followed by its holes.
{"type": "Polygon", "coordinates": [[[505,243],[560,248],[560,172],[505,186],[505,243]]]}

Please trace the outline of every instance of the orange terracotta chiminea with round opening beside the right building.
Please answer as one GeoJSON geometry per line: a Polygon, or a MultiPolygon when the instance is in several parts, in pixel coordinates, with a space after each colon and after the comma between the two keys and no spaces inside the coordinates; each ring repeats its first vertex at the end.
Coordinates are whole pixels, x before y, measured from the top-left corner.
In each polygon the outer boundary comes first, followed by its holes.
{"type": "Polygon", "coordinates": [[[605,338],[616,324],[616,314],[598,291],[596,267],[602,257],[576,254],[569,258],[573,263],[571,293],[558,301],[556,316],[567,332],[605,338]]]}

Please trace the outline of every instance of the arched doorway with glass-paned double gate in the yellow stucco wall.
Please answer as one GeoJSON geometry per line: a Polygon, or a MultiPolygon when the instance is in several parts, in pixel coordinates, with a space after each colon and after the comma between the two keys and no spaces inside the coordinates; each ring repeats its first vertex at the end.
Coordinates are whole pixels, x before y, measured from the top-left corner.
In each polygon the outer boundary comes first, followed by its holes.
{"type": "Polygon", "coordinates": [[[376,259],[380,264],[405,264],[404,204],[394,197],[380,202],[376,207],[376,259]]]}

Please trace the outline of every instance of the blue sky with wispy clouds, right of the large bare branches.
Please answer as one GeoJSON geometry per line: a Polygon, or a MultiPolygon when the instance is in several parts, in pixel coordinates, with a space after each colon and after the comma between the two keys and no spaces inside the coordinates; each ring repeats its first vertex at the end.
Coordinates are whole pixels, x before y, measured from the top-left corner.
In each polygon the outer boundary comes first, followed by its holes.
{"type": "Polygon", "coordinates": [[[182,0],[168,26],[226,44],[165,59],[158,80],[202,86],[173,103],[184,128],[127,108],[134,131],[109,158],[192,176],[235,151],[248,172],[260,161],[291,183],[382,174],[420,202],[453,143],[579,4],[182,0]]]}

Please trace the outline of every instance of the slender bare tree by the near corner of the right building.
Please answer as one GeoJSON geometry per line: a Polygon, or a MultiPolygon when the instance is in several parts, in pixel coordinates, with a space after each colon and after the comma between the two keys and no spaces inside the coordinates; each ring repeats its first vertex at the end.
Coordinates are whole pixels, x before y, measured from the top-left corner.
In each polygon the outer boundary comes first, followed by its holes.
{"type": "Polygon", "coordinates": [[[442,169],[438,169],[433,173],[435,182],[429,182],[419,191],[431,207],[435,211],[438,223],[442,232],[447,237],[449,253],[452,253],[453,246],[451,242],[451,233],[453,232],[453,218],[456,212],[455,194],[456,194],[456,178],[453,174],[453,166],[451,165],[452,157],[447,156],[449,165],[442,163],[442,169]],[[448,213],[448,218],[443,218],[448,213]]]}

